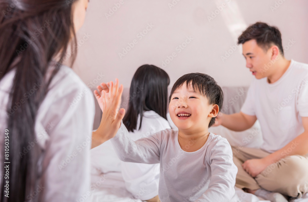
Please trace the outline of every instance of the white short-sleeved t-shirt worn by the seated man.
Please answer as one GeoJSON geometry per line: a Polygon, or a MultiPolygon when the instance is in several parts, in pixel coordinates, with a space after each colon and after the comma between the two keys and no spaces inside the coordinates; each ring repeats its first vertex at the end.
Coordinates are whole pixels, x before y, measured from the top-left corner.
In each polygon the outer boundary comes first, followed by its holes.
{"type": "Polygon", "coordinates": [[[308,117],[308,64],[291,60],[282,77],[271,84],[267,78],[253,79],[241,112],[260,121],[261,149],[272,153],[286,146],[304,132],[301,117],[308,117]]]}

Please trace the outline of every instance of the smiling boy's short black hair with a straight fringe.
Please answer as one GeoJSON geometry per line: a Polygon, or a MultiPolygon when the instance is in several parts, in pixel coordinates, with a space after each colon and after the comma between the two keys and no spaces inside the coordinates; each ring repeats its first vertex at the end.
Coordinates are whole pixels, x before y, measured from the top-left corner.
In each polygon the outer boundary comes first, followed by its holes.
{"type": "MultiPolygon", "coordinates": [[[[203,96],[206,96],[209,101],[209,105],[216,104],[219,109],[222,108],[224,93],[222,92],[221,87],[211,76],[203,73],[189,73],[181,76],[172,87],[169,102],[171,101],[171,96],[174,91],[182,87],[184,83],[186,83],[187,88],[191,83],[194,91],[199,91],[203,94],[203,96]]],[[[216,117],[211,119],[209,122],[209,127],[215,123],[215,119],[216,117]]]]}

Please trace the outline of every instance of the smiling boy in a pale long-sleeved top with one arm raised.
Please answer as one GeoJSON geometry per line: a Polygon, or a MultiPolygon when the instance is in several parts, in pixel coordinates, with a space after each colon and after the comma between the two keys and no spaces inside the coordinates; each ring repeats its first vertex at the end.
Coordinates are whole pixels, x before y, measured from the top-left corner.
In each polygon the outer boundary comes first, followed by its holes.
{"type": "Polygon", "coordinates": [[[119,158],[160,163],[161,201],[229,201],[237,173],[231,146],[208,132],[223,103],[220,86],[207,74],[186,74],[173,85],[169,101],[170,117],[179,131],[165,129],[134,142],[122,123],[111,139],[119,158]]]}

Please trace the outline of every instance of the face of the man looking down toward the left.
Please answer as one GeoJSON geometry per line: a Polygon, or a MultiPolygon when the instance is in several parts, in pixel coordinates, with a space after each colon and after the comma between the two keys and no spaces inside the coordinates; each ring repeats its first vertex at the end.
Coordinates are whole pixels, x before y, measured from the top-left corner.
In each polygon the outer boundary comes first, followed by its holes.
{"type": "Polygon", "coordinates": [[[257,78],[261,79],[270,75],[270,67],[272,65],[271,49],[265,51],[257,45],[255,39],[249,40],[243,44],[243,55],[246,59],[246,67],[257,78]]]}

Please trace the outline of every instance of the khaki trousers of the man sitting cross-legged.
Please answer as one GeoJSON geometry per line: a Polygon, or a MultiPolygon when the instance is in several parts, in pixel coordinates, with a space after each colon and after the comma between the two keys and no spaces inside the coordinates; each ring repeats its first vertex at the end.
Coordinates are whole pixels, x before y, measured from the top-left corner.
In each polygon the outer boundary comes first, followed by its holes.
{"type": "Polygon", "coordinates": [[[242,164],[249,159],[264,158],[270,153],[261,149],[233,146],[232,152],[233,162],[238,169],[235,183],[238,188],[263,188],[298,198],[308,192],[308,154],[286,156],[253,178],[242,168],[242,164]]]}

